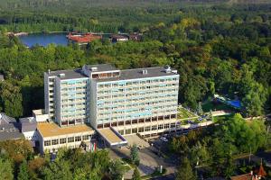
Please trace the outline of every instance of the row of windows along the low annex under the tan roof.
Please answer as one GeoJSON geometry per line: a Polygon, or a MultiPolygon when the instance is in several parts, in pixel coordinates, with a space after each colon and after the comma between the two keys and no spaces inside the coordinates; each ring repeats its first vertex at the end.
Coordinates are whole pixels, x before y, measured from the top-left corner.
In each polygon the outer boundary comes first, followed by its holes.
{"type": "MultiPolygon", "coordinates": [[[[91,137],[90,135],[70,137],[70,138],[68,138],[68,143],[70,143],[70,142],[78,142],[78,141],[81,141],[81,140],[89,140],[90,137],[91,137]]],[[[44,146],[65,144],[66,142],[67,142],[67,138],[44,140],[44,146]]]]}

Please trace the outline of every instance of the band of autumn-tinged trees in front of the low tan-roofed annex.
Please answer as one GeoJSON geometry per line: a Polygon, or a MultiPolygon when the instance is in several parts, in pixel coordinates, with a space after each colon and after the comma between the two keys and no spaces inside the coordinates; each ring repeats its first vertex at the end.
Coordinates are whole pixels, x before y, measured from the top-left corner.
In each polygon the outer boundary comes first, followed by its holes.
{"type": "Polygon", "coordinates": [[[119,160],[110,160],[107,150],[60,149],[51,163],[50,154],[35,156],[27,140],[0,142],[0,149],[1,180],[121,180],[126,171],[119,160]]]}

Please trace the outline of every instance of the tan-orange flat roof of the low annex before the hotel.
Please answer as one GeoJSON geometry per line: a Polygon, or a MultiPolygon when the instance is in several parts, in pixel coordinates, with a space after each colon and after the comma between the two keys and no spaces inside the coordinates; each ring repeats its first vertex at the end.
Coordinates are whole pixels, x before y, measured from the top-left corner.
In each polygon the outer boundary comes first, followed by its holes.
{"type": "Polygon", "coordinates": [[[75,134],[80,132],[91,132],[94,130],[86,124],[72,125],[68,127],[60,127],[54,122],[40,122],[38,123],[37,129],[42,134],[43,138],[61,136],[68,134],[75,134]]]}

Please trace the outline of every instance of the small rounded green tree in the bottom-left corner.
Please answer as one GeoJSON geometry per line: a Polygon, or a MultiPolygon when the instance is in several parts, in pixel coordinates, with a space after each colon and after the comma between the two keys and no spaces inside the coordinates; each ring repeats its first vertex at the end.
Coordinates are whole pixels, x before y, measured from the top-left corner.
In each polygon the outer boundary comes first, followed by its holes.
{"type": "Polygon", "coordinates": [[[13,168],[9,159],[0,157],[0,178],[5,180],[13,180],[13,168]]]}

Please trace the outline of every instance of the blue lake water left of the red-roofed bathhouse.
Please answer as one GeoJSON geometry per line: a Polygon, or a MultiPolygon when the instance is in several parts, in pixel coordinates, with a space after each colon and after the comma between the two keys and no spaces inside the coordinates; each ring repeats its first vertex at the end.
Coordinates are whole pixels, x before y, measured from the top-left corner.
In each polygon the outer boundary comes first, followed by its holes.
{"type": "Polygon", "coordinates": [[[36,44],[40,46],[48,46],[48,44],[56,44],[67,46],[67,33],[33,33],[29,35],[19,36],[19,39],[28,47],[33,47],[36,44]]]}

